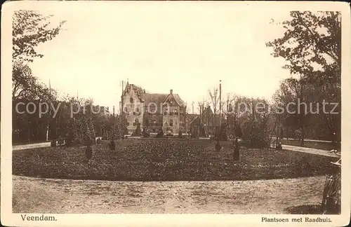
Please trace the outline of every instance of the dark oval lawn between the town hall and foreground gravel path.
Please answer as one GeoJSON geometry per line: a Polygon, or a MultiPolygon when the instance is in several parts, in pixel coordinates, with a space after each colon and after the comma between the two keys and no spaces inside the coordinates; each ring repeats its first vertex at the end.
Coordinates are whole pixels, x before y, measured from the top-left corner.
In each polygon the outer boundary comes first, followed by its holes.
{"type": "Polygon", "coordinates": [[[13,151],[13,174],[58,179],[115,181],[223,181],[311,177],[329,174],[335,158],[292,151],[241,149],[232,161],[232,145],[187,139],[125,139],[110,151],[93,146],[85,163],[85,147],[13,151]]]}

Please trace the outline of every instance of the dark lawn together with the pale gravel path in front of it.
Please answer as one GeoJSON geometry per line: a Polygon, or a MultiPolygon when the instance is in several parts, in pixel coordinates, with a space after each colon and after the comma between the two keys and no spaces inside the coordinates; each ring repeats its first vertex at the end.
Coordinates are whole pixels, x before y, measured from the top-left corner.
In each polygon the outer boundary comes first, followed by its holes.
{"type": "Polygon", "coordinates": [[[241,149],[240,163],[225,165],[230,144],[216,153],[208,142],[187,143],[127,140],[113,152],[98,144],[90,164],[84,147],[14,151],[13,212],[319,212],[335,158],[241,149]]]}

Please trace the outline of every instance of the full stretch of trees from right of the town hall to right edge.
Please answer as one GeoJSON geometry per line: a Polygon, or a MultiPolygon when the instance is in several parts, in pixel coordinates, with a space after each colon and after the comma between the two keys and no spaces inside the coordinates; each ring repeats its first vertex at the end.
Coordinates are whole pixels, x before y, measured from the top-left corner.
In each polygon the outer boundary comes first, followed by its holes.
{"type": "Polygon", "coordinates": [[[293,137],[297,130],[301,145],[306,137],[340,141],[340,13],[293,11],[290,15],[291,20],[278,24],[285,29],[283,36],[266,43],[274,57],[286,60],[283,68],[291,72],[272,102],[233,94],[221,101],[218,88],[208,90],[207,101],[198,102],[200,113],[204,106],[211,106],[215,116],[222,113],[212,118],[212,125],[224,122],[229,134],[234,134],[233,124],[239,125],[242,137],[253,146],[267,145],[273,135],[293,137]],[[246,108],[238,109],[240,103],[246,108]],[[257,103],[270,106],[270,111],[250,111],[257,103]]]}

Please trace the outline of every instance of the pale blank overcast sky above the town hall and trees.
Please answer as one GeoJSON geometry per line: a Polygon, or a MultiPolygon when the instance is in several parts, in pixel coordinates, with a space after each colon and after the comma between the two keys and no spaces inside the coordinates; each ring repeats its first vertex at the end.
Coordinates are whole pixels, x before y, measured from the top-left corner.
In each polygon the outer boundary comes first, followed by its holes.
{"type": "MultiPolygon", "coordinates": [[[[92,9],[92,8],[91,8],[92,9]]],[[[225,93],[271,99],[279,81],[290,76],[284,60],[272,57],[265,43],[283,35],[289,19],[282,8],[236,8],[235,4],[149,4],[54,14],[67,20],[64,30],[37,48],[35,76],[61,94],[93,98],[118,106],[121,81],[150,92],[173,89],[190,106],[208,98],[208,88],[223,83],[225,93]]],[[[118,109],[118,107],[117,107],[118,109]]],[[[197,107],[194,108],[196,111],[197,107]]]]}

